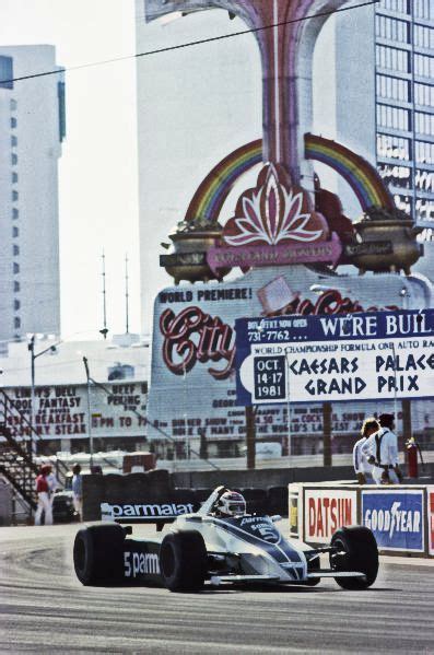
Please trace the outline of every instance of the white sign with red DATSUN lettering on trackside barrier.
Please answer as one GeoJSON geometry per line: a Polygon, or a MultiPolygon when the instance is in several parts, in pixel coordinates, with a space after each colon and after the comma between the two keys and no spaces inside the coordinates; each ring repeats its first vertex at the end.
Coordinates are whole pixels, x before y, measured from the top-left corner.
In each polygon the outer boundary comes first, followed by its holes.
{"type": "Polygon", "coordinates": [[[304,492],[304,538],[327,543],[344,525],[357,523],[357,492],[340,489],[306,489],[304,492]]]}

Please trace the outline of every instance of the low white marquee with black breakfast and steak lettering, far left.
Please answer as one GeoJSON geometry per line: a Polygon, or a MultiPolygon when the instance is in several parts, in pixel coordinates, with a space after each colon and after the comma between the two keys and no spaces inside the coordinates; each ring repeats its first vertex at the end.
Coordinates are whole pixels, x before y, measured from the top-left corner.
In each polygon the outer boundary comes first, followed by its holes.
{"type": "MultiPolygon", "coordinates": [[[[17,411],[8,412],[5,423],[12,436],[30,435],[32,389],[4,389],[17,411]]],[[[148,384],[107,382],[104,388],[91,386],[92,435],[137,436],[146,433],[148,384]]],[[[33,423],[42,438],[85,438],[89,436],[87,385],[35,387],[33,423]]]]}

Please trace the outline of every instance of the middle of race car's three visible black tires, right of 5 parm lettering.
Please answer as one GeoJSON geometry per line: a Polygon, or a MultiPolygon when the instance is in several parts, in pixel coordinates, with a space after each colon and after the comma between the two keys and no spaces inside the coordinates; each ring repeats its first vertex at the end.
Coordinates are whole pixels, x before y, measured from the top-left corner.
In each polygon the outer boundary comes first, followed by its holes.
{"type": "Polygon", "coordinates": [[[171,592],[198,592],[207,576],[207,549],[196,530],[168,533],[160,548],[163,581],[171,592]]]}

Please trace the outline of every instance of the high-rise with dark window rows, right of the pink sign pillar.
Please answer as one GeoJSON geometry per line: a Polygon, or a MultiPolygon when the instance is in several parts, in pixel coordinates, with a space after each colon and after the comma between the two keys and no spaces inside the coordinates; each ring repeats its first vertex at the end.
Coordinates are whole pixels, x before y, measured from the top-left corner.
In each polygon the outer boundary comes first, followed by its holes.
{"type": "MultiPolygon", "coordinates": [[[[430,225],[433,0],[382,0],[333,16],[319,37],[315,70],[315,131],[368,159],[397,207],[430,225]]],[[[344,210],[351,218],[357,215],[350,189],[339,178],[335,184],[344,210]]]]}

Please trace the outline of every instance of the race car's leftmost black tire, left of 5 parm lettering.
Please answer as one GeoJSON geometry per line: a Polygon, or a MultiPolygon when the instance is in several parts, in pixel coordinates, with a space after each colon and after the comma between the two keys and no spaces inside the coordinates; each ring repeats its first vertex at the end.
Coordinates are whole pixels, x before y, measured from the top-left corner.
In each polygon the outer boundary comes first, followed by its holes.
{"type": "Polygon", "coordinates": [[[116,523],[92,525],[75,535],[73,559],[83,585],[117,584],[122,580],[125,531],[116,523]]]}

